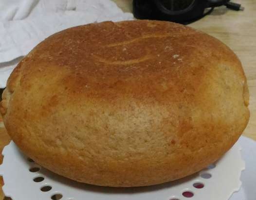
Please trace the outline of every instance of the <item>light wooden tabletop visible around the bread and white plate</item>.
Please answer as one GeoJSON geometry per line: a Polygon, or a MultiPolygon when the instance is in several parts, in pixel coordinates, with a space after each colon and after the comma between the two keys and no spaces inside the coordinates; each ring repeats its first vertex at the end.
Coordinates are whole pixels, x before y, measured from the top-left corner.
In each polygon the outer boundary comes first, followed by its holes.
{"type": "MultiPolygon", "coordinates": [[[[125,12],[132,12],[132,0],[113,0],[125,12]]],[[[256,0],[234,0],[242,3],[244,11],[217,8],[209,16],[189,26],[209,33],[234,50],[240,58],[250,90],[251,117],[244,135],[256,140],[256,0]]],[[[0,118],[0,152],[10,141],[0,118]]],[[[1,162],[0,155],[0,162],[1,162]]],[[[0,186],[2,182],[0,180],[0,186]]],[[[3,194],[0,191],[0,200],[3,194]]]]}

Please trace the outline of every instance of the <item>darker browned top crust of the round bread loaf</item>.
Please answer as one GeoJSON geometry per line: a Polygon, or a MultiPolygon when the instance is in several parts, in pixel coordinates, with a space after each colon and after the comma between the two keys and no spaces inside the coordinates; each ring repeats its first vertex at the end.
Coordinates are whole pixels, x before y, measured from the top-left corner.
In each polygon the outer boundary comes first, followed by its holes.
{"type": "Polygon", "coordinates": [[[73,100],[79,95],[112,103],[126,97],[191,101],[187,94],[200,87],[216,63],[229,64],[241,80],[244,77],[236,55],[217,39],[179,24],[146,20],[104,22],[56,33],[23,62],[23,84],[29,82],[28,87],[39,77],[47,83],[59,79],[73,100]],[[58,74],[51,75],[54,71],[58,74]]]}

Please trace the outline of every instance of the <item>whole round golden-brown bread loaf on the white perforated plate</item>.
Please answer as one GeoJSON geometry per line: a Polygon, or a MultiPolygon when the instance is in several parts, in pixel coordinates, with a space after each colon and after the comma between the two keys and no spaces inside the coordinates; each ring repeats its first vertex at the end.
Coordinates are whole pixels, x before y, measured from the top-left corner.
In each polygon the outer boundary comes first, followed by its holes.
{"type": "Polygon", "coordinates": [[[55,33],[18,64],[2,99],[6,129],[27,156],[75,181],[116,187],[207,167],[249,119],[235,53],[164,21],[55,33]]]}

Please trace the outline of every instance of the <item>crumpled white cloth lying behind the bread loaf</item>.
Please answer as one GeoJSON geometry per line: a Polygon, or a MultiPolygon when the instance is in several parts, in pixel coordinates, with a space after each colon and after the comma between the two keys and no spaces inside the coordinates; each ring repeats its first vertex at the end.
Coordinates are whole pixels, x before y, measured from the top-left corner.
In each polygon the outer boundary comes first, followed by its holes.
{"type": "Polygon", "coordinates": [[[111,0],[0,0],[0,88],[39,42],[69,27],[133,19],[111,0]]]}

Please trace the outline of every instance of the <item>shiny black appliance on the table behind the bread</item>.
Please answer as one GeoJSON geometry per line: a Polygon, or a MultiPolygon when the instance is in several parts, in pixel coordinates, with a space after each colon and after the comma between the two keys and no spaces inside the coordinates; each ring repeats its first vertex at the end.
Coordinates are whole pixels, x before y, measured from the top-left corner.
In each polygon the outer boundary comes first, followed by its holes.
{"type": "Polygon", "coordinates": [[[133,14],[139,19],[189,24],[210,14],[214,7],[221,5],[237,11],[244,9],[230,0],[133,0],[133,14]]]}

